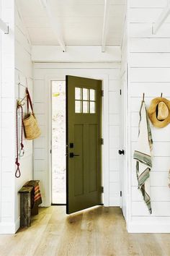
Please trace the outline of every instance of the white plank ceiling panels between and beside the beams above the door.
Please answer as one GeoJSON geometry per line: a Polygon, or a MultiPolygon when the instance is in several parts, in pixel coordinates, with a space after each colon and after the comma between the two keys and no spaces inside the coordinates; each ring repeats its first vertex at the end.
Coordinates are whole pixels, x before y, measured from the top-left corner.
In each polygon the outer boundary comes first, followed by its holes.
{"type": "MultiPolygon", "coordinates": [[[[48,0],[55,21],[61,25],[68,46],[101,46],[104,0],[48,0]]],[[[40,0],[19,0],[20,10],[32,45],[58,45],[45,8],[40,0]]],[[[107,46],[119,46],[125,12],[125,0],[109,1],[107,46]]]]}

